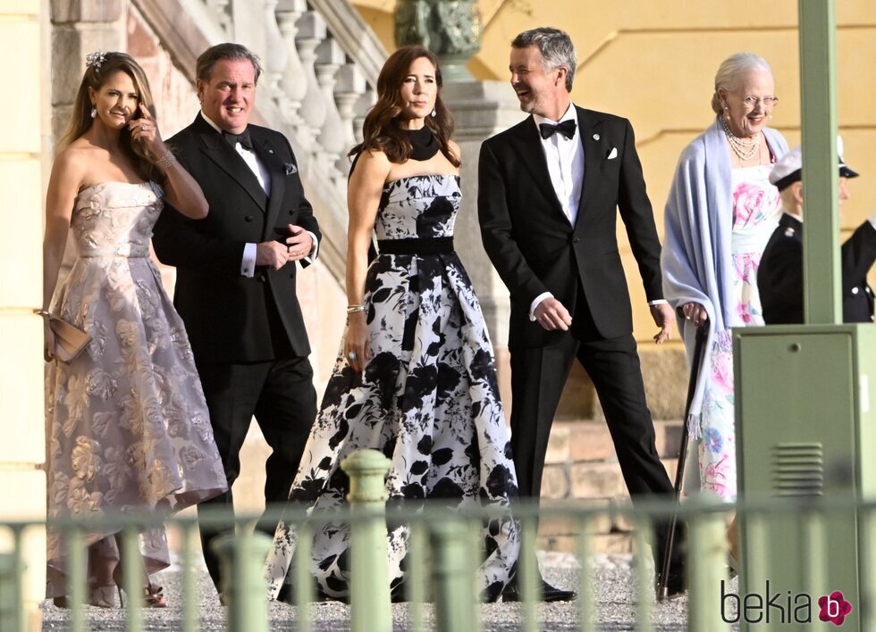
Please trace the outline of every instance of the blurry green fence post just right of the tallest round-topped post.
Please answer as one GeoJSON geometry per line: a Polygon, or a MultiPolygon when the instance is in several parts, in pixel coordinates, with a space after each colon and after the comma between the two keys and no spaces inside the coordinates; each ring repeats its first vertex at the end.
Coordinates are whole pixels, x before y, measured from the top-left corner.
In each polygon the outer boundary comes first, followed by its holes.
{"type": "Polygon", "coordinates": [[[434,551],[435,621],[439,632],[474,630],[474,576],[468,560],[468,530],[460,520],[446,520],[431,527],[434,551]]]}

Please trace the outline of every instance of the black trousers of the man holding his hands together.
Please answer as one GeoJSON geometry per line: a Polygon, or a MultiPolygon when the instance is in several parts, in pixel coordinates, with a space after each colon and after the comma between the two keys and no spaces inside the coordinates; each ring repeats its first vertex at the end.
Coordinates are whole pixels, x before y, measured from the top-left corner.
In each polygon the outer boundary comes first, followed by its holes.
{"type": "MultiPolygon", "coordinates": [[[[316,418],[313,369],[307,358],[248,364],[198,364],[210,423],[228,479],[228,491],[200,503],[201,507],[233,508],[232,485],[240,474],[240,448],[255,416],[273,453],[265,462],[265,505],[285,503],[301,455],[316,418]]],[[[225,529],[201,527],[206,568],[217,590],[222,590],[219,558],[211,548],[225,529]]],[[[265,528],[274,536],[274,529],[265,528]]]]}

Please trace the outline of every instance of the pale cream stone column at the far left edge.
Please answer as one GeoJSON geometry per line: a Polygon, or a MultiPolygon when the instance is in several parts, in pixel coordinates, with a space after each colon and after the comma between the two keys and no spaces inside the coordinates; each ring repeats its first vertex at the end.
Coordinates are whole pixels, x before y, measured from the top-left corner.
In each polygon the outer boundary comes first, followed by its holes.
{"type": "MultiPolygon", "coordinates": [[[[0,104],[0,524],[46,515],[42,322],[32,314],[42,300],[43,16],[38,2],[0,2],[0,41],[16,84],[14,96],[0,104]]],[[[43,534],[29,529],[23,541],[31,629],[38,626],[37,603],[45,592],[43,534]]],[[[12,547],[11,534],[0,530],[0,551],[12,547]]]]}

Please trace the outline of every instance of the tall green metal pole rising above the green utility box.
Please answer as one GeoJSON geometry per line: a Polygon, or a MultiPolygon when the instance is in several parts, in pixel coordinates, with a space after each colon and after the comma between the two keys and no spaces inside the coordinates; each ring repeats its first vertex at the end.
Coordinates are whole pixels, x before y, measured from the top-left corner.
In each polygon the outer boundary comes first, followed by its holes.
{"type": "Polygon", "coordinates": [[[804,312],[809,324],[843,321],[837,212],[837,44],[834,0],[800,0],[803,128],[804,312]]]}

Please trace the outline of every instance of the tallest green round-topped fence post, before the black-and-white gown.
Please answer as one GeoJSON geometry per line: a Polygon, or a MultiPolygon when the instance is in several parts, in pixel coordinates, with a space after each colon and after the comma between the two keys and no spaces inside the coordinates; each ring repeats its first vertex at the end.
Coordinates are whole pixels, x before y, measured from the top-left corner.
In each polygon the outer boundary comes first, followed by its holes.
{"type": "Polygon", "coordinates": [[[341,462],[341,470],[350,477],[347,500],[354,518],[350,524],[352,632],[392,630],[384,485],[391,466],[376,450],[357,450],[341,462]]]}

